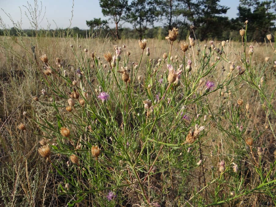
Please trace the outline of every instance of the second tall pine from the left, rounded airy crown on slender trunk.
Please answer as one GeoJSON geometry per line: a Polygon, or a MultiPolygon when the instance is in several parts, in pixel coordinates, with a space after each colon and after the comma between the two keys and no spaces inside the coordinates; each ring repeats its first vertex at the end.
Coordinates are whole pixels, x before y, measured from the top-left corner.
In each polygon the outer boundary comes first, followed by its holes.
{"type": "Polygon", "coordinates": [[[153,26],[156,19],[155,11],[155,4],[150,0],[134,0],[131,2],[126,17],[128,22],[133,24],[133,28],[139,32],[140,40],[142,40],[148,24],[153,26]]]}

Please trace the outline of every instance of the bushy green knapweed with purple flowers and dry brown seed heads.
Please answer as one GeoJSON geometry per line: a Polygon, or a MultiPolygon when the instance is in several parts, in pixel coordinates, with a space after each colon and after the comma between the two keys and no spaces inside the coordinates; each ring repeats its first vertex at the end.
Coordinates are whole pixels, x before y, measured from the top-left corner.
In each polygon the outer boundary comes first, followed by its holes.
{"type": "Polygon", "coordinates": [[[174,28],[159,57],[145,39],[133,62],[125,44],[104,54],[71,45],[73,72],[40,56],[45,89],[33,102],[54,113],[30,120],[68,206],[276,205],[276,161],[266,154],[276,117],[266,79],[275,72],[254,57],[245,25],[236,49],[192,35],[178,44],[174,28]]]}

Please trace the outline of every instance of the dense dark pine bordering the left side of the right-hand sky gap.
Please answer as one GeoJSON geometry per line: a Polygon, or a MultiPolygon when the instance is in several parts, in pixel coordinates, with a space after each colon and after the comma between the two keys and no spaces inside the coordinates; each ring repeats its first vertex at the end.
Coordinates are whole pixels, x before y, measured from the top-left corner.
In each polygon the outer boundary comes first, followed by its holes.
{"type": "Polygon", "coordinates": [[[190,21],[193,22],[199,39],[219,37],[223,31],[229,27],[228,17],[221,16],[226,14],[229,7],[221,6],[220,0],[201,0],[195,4],[193,16],[190,21]]]}

